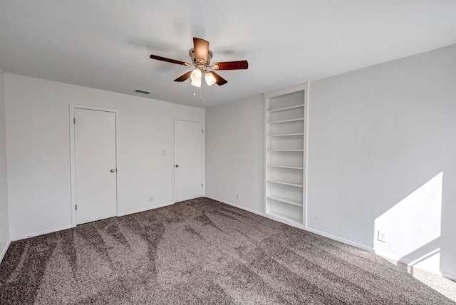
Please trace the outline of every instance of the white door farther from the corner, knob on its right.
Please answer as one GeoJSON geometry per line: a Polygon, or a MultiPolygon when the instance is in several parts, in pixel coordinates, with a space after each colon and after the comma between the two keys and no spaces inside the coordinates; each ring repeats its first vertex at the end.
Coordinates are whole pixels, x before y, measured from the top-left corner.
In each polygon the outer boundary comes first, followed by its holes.
{"type": "Polygon", "coordinates": [[[76,223],[117,215],[115,113],[75,108],[76,223]]]}

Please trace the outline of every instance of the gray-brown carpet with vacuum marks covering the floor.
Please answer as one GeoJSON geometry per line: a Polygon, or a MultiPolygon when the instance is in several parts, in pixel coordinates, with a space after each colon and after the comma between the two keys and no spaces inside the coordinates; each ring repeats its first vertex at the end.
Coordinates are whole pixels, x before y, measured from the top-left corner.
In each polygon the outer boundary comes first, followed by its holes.
{"type": "Polygon", "coordinates": [[[0,304],[455,304],[375,254],[207,198],[13,242],[0,304]]]}

